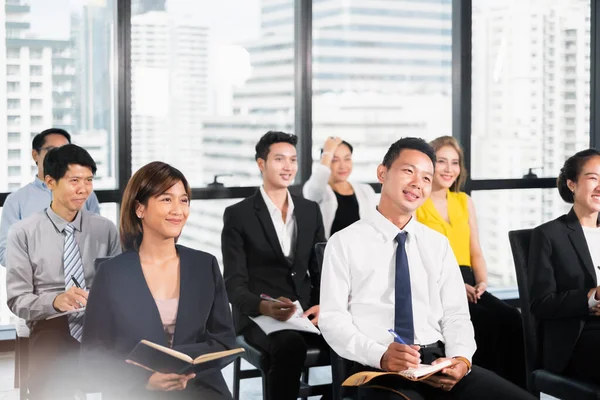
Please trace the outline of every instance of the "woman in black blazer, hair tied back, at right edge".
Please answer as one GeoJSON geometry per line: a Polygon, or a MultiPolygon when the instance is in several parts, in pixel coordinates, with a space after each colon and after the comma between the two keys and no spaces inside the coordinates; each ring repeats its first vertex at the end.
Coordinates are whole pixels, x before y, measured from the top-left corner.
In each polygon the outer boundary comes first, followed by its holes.
{"type": "Polygon", "coordinates": [[[600,152],[565,161],[558,192],[571,211],[533,230],[529,251],[531,312],[543,367],[600,383],[600,152]]]}

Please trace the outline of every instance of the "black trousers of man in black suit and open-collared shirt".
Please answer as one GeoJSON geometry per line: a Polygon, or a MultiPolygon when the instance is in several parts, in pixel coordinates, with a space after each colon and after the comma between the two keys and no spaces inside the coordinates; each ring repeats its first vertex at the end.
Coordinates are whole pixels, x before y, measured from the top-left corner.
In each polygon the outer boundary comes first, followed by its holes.
{"type": "Polygon", "coordinates": [[[296,400],[300,389],[300,375],[306,360],[308,347],[329,351],[323,336],[298,331],[279,331],[267,336],[258,325],[252,323],[242,334],[253,346],[269,355],[267,372],[268,398],[273,400],[296,400]]]}

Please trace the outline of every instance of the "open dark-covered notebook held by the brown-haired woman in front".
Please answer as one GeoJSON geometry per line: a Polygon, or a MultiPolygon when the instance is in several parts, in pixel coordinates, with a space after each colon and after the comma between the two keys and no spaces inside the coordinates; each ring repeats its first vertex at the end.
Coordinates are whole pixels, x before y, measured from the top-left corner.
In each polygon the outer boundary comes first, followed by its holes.
{"type": "Polygon", "coordinates": [[[221,369],[243,352],[244,349],[238,348],[203,354],[196,359],[192,359],[192,357],[177,350],[148,340],[142,340],[129,353],[126,361],[154,372],[189,374],[210,369],[221,369]]]}

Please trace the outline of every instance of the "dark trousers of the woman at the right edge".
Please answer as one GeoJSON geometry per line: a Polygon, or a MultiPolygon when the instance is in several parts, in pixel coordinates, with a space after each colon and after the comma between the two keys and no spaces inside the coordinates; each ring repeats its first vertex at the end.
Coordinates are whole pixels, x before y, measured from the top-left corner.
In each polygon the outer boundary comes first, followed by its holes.
{"type": "Polygon", "coordinates": [[[600,317],[585,323],[577,339],[565,375],[593,384],[600,382],[600,317]]]}

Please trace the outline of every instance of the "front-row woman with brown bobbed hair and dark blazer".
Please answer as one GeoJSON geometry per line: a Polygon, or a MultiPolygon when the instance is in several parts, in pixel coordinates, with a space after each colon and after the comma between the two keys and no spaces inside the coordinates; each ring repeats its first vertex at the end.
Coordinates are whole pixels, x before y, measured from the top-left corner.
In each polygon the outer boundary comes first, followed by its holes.
{"type": "Polygon", "coordinates": [[[231,399],[220,370],[178,375],[125,362],[142,339],[196,358],[235,347],[217,259],[176,244],[190,212],[183,174],[140,168],[121,205],[124,253],[101,264],[86,310],[82,363],[103,398],[231,399]]]}

